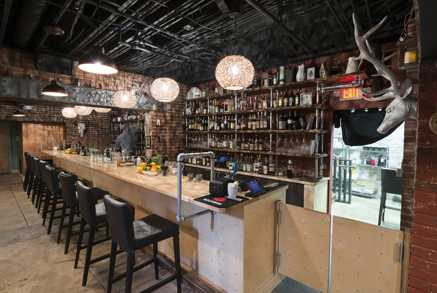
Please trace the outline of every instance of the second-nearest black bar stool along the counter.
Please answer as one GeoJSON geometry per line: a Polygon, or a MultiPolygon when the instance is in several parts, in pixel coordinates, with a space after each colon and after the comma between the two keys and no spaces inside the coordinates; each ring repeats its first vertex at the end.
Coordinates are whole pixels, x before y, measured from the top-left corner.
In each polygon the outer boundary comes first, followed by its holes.
{"type": "MultiPolygon", "coordinates": [[[[105,206],[103,203],[98,204],[98,205],[95,204],[93,190],[86,187],[82,181],[76,182],[76,190],[77,190],[77,195],[79,198],[79,205],[81,207],[82,220],[81,220],[81,227],[79,230],[79,241],[77,244],[76,260],[74,262],[74,268],[75,269],[77,268],[77,264],[79,262],[79,255],[80,255],[81,250],[86,248],[84,276],[82,278],[82,286],[85,286],[86,280],[88,278],[89,265],[110,257],[110,254],[108,253],[108,254],[101,256],[101,257],[98,257],[96,259],[91,259],[93,245],[110,240],[111,237],[108,237],[109,231],[106,230],[107,237],[103,238],[99,241],[94,242],[94,233],[95,233],[95,230],[97,228],[97,225],[102,224],[102,223],[107,223],[105,206]],[[89,225],[88,244],[82,245],[82,239],[84,237],[84,229],[85,229],[86,223],[88,223],[88,225],[89,225]]],[[[129,204],[127,204],[125,201],[123,201],[121,199],[118,199],[118,201],[121,201],[124,204],[126,204],[127,208],[129,209],[129,214],[132,215],[132,217],[134,217],[135,208],[130,206],[129,204]]],[[[133,220],[133,219],[131,218],[131,220],[133,220]]],[[[106,228],[108,228],[108,225],[106,225],[106,228]]],[[[119,254],[123,251],[124,250],[117,251],[117,247],[116,247],[115,253],[119,254]]]]}

